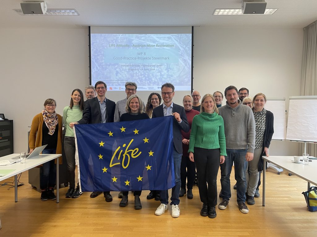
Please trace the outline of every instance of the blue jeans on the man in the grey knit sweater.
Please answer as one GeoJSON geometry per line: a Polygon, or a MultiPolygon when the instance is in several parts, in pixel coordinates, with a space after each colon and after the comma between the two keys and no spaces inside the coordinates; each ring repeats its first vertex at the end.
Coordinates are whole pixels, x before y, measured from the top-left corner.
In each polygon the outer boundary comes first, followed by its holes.
{"type": "Polygon", "coordinates": [[[226,149],[227,157],[223,164],[220,165],[221,169],[221,189],[222,199],[228,200],[231,197],[230,191],[230,173],[233,162],[235,162],[235,174],[237,178],[237,203],[245,202],[245,191],[247,188],[247,179],[245,177],[245,170],[248,162],[245,160],[247,149],[235,150],[226,149]]]}

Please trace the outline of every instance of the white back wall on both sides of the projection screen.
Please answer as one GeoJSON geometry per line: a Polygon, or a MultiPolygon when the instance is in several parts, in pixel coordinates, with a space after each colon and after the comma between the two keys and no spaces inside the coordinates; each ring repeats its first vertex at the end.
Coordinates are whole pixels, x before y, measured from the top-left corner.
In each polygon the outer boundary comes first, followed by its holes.
{"type": "MultiPolygon", "coordinates": [[[[71,91],[89,83],[87,34],[87,29],[0,29],[0,112],[14,120],[15,153],[27,149],[28,126],[45,99],[54,98],[61,114],[71,91]]],[[[300,94],[302,29],[195,27],[194,44],[193,88],[202,95],[231,84],[249,88],[250,95],[300,94]]],[[[270,150],[299,153],[290,142],[273,142],[270,150]]]]}

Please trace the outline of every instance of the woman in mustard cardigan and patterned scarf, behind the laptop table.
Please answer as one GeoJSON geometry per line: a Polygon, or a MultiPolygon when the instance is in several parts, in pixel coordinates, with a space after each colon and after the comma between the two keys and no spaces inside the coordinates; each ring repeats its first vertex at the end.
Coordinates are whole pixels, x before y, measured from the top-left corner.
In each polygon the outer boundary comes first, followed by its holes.
{"type": "MultiPolygon", "coordinates": [[[[56,101],[47,99],[44,109],[33,120],[29,136],[30,153],[42,145],[46,145],[42,154],[61,154],[62,118],[55,112],[56,101]]],[[[61,163],[61,157],[60,163],[61,163]]],[[[41,200],[55,200],[56,166],[54,160],[43,164],[40,170],[41,200]]]]}

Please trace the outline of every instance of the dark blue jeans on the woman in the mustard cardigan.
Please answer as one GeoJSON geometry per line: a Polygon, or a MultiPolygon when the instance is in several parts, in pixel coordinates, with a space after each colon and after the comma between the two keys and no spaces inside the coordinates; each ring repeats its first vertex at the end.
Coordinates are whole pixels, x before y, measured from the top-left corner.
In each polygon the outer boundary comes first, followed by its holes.
{"type": "MultiPolygon", "coordinates": [[[[56,154],[56,149],[44,149],[42,154],[56,154]]],[[[58,162],[58,161],[57,161],[58,162]]],[[[54,188],[56,183],[56,165],[55,160],[48,161],[40,168],[40,188],[54,188]]]]}

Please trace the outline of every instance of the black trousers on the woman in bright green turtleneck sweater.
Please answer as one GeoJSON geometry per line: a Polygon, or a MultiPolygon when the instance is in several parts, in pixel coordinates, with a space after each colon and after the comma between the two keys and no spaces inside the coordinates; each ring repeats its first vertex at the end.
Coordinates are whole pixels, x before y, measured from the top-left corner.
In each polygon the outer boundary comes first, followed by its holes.
{"type": "Polygon", "coordinates": [[[217,205],[217,174],[220,166],[220,150],[195,147],[194,161],[198,176],[200,201],[214,207],[217,205]]]}

